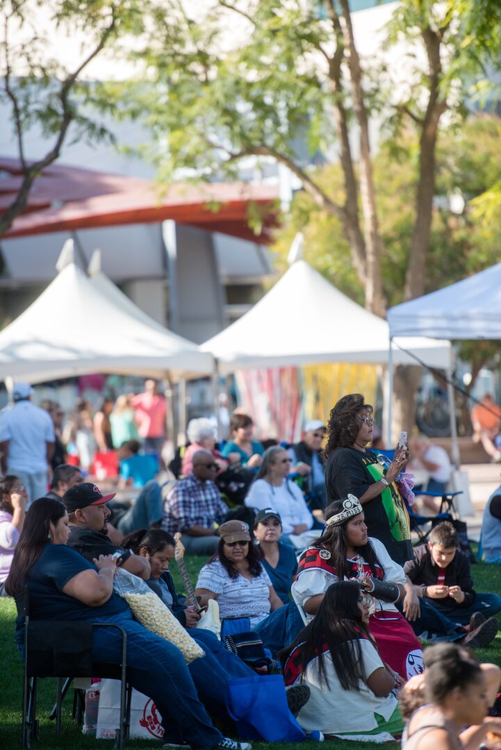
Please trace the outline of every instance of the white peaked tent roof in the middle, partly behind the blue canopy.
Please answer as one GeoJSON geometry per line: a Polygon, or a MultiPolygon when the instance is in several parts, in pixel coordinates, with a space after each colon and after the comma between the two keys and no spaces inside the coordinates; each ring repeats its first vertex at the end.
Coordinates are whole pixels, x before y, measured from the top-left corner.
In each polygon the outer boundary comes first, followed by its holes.
{"type": "MultiPolygon", "coordinates": [[[[427,365],[446,368],[450,344],[396,341],[427,365]]],[[[296,260],[242,318],[200,347],[221,373],[315,362],[388,362],[389,327],[329,284],[305,260],[296,260]]],[[[396,364],[416,364],[394,351],[396,364]]]]}

